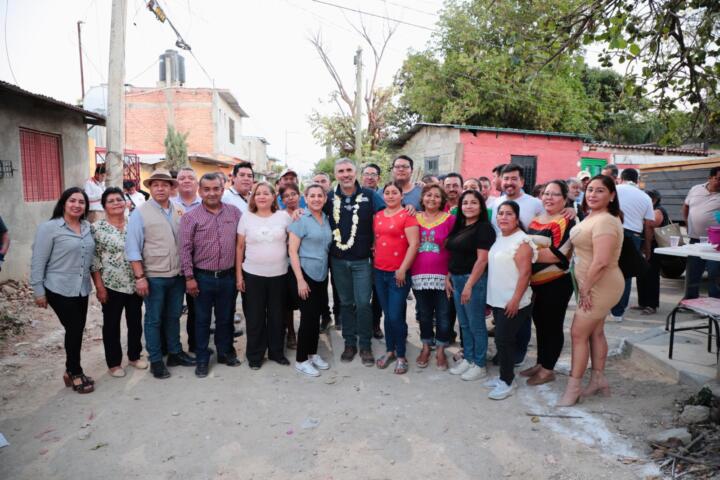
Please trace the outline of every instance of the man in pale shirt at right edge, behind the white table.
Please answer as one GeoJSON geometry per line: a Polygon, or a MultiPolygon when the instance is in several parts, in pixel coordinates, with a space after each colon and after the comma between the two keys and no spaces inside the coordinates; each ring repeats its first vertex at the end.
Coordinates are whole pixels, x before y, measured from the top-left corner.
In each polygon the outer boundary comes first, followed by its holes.
{"type": "MultiPolygon", "coordinates": [[[[683,204],[683,217],[688,226],[690,243],[698,243],[708,235],[708,227],[720,223],[720,167],[710,169],[707,183],[690,189],[683,204]]],[[[708,295],[720,298],[720,262],[688,257],[685,272],[685,298],[700,295],[703,272],[708,271],[708,295]]]]}

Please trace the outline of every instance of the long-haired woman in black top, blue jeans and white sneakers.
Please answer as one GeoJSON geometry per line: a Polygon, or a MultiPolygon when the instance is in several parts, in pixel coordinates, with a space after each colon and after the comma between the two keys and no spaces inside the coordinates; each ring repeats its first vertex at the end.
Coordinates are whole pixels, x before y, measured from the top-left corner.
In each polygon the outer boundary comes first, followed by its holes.
{"type": "Polygon", "coordinates": [[[465,357],[450,373],[467,381],[487,376],[485,300],[488,251],[494,242],[485,200],[480,192],[466,190],[458,200],[457,220],[446,244],[450,251],[446,290],[455,301],[465,357]]]}

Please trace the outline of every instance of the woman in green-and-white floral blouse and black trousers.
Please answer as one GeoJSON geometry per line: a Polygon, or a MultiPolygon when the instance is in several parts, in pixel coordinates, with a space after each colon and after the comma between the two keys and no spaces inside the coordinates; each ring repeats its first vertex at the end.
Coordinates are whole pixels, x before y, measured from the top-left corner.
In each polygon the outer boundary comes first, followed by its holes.
{"type": "Polygon", "coordinates": [[[124,377],[120,320],[123,309],[128,329],[129,364],[145,369],[142,352],[142,297],[135,293],[135,277],[125,259],[125,198],[122,190],[110,187],[101,197],[105,218],[92,224],[95,257],[91,268],[96,295],[103,309],[103,345],[105,361],[113,377],[124,377]]]}

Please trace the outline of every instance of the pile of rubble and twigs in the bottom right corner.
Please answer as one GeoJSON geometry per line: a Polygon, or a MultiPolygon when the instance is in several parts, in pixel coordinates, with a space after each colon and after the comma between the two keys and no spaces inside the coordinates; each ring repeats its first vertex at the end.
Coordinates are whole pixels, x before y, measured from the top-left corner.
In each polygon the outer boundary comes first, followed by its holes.
{"type": "Polygon", "coordinates": [[[647,440],[668,478],[709,479],[720,472],[720,397],[708,386],[677,405],[677,428],[647,440]]]}

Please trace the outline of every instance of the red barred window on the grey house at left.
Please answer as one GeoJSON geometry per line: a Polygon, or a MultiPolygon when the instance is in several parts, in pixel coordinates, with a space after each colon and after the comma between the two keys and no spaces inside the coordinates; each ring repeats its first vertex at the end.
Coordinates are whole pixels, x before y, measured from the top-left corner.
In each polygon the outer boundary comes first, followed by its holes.
{"type": "Polygon", "coordinates": [[[20,129],[23,197],[26,202],[47,202],[60,197],[60,146],[60,135],[20,129]]]}

